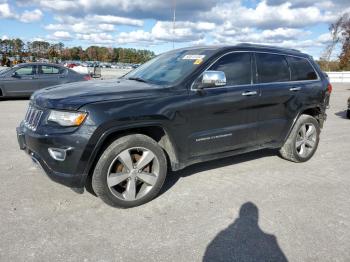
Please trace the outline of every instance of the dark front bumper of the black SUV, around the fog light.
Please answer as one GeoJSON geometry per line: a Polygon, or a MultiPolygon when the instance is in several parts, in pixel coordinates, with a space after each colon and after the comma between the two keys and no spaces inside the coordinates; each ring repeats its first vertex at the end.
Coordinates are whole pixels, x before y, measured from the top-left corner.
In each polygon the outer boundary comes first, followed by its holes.
{"type": "Polygon", "coordinates": [[[17,127],[16,132],[20,149],[24,150],[51,180],[72,188],[84,187],[86,174],[79,172],[84,170],[82,167],[84,139],[72,134],[40,135],[26,128],[23,123],[17,127]],[[73,150],[69,152],[65,161],[54,160],[49,155],[48,148],[59,148],[64,145],[74,145],[73,150]]]}

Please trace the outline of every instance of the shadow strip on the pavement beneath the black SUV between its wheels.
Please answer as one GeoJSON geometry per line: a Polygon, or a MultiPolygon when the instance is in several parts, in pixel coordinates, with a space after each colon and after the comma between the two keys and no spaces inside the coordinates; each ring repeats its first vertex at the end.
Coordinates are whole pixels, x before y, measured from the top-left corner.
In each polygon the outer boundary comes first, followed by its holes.
{"type": "Polygon", "coordinates": [[[164,194],[167,192],[171,187],[173,187],[177,181],[179,181],[182,177],[187,177],[199,172],[211,170],[211,169],[216,169],[220,167],[225,167],[225,166],[230,166],[238,163],[243,163],[247,161],[251,161],[254,159],[258,158],[263,158],[263,157],[269,157],[269,156],[274,156],[277,155],[278,152],[273,149],[263,149],[263,150],[258,150],[250,153],[245,153],[241,155],[236,155],[236,156],[231,156],[231,157],[226,157],[218,160],[212,160],[208,162],[203,162],[199,164],[194,164],[189,167],[186,167],[183,170],[176,171],[176,172],[170,172],[167,175],[167,178],[164,182],[164,185],[160,191],[159,195],[164,194]]]}

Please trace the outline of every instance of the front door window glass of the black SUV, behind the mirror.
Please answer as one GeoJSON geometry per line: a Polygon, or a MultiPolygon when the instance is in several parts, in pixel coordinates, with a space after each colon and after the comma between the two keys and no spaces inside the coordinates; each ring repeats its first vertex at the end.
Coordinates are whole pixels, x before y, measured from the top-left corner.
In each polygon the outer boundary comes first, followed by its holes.
{"type": "Polygon", "coordinates": [[[208,70],[223,71],[228,86],[247,85],[251,83],[250,53],[232,53],[225,55],[208,70]]]}

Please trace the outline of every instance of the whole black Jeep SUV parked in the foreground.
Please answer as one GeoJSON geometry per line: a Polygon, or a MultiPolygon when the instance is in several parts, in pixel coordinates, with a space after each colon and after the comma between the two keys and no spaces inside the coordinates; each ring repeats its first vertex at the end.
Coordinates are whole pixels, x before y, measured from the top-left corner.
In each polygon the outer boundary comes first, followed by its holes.
{"type": "Polygon", "coordinates": [[[331,90],[297,50],[178,49],[120,79],[35,92],[17,135],[52,180],[133,207],[159,193],[168,169],[261,148],[307,161],[331,90]]]}

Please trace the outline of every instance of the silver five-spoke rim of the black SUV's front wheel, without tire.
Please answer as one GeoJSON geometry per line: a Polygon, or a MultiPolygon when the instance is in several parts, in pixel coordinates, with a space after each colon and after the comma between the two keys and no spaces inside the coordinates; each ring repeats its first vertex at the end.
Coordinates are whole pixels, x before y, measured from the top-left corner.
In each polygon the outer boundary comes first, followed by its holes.
{"type": "Polygon", "coordinates": [[[147,195],[159,176],[159,160],[149,149],[129,148],[117,155],[108,169],[107,185],[114,196],[133,201],[147,195]]]}

